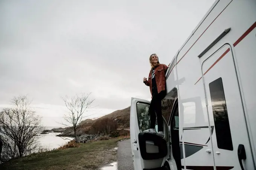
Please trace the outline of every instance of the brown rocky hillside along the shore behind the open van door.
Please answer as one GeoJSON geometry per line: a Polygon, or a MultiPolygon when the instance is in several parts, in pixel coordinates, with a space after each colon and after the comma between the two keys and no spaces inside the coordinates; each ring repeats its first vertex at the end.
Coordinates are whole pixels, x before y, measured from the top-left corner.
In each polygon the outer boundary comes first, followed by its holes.
{"type": "MultiPolygon", "coordinates": [[[[174,100],[163,99],[162,100],[162,114],[165,120],[168,122],[171,114],[171,109],[174,100]]],[[[130,108],[131,106],[114,111],[108,115],[100,117],[96,120],[86,119],[81,121],[78,129],[78,136],[84,134],[110,134],[119,131],[119,135],[126,135],[127,129],[130,128],[130,108]]],[[[52,129],[53,131],[63,132],[59,136],[70,136],[73,137],[74,133],[71,128],[64,129],[52,129]]]]}

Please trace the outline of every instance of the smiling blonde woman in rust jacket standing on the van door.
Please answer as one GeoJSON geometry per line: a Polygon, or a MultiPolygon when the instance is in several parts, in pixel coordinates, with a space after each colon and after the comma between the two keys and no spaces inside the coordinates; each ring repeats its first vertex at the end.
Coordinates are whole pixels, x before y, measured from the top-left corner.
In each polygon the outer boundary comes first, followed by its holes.
{"type": "Polygon", "coordinates": [[[160,64],[158,56],[152,54],[149,57],[149,63],[151,70],[149,72],[148,80],[143,78],[145,85],[149,86],[151,92],[151,103],[149,106],[150,114],[150,129],[143,131],[144,133],[156,133],[155,132],[155,119],[157,117],[158,133],[157,135],[164,137],[163,135],[163,117],[162,117],[162,100],[166,96],[166,71],[168,66],[160,64]]]}

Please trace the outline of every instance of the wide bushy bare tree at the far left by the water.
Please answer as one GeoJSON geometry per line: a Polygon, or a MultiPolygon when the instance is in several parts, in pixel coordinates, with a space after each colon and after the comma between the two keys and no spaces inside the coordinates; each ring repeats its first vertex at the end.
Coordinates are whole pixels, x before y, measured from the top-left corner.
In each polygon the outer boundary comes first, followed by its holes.
{"type": "Polygon", "coordinates": [[[41,126],[41,117],[29,108],[26,96],[14,97],[13,107],[0,112],[0,134],[3,140],[2,161],[35,152],[41,126]]]}

